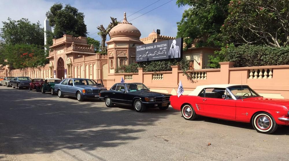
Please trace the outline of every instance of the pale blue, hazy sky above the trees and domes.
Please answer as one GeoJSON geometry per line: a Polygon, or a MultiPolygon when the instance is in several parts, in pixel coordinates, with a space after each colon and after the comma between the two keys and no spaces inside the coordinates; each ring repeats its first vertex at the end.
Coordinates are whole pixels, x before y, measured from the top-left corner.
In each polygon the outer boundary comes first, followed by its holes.
{"type": "MultiPolygon", "coordinates": [[[[97,26],[103,24],[107,26],[110,23],[110,16],[123,19],[123,12],[127,13],[127,16],[134,12],[156,2],[157,0],[105,0],[105,1],[89,1],[89,0],[0,0],[0,21],[6,21],[8,17],[13,20],[20,18],[28,18],[31,22],[37,22],[38,20],[43,26],[45,20],[45,13],[49,10],[51,5],[56,2],[63,4],[71,4],[79,9],[85,15],[85,24],[87,25],[88,35],[97,40],[101,40],[97,34],[97,26]],[[93,34],[93,35],[90,35],[93,34]]],[[[142,11],[130,16],[127,20],[132,20],[155,7],[158,7],[170,0],[160,0],[157,3],[143,9],[142,11]]],[[[160,29],[162,35],[176,36],[177,24],[182,17],[182,13],[185,7],[178,7],[176,0],[173,0],[158,9],[155,9],[135,20],[131,23],[136,26],[142,36],[147,37],[153,29],[160,29]]],[[[3,24],[0,24],[0,28],[3,24]]]]}

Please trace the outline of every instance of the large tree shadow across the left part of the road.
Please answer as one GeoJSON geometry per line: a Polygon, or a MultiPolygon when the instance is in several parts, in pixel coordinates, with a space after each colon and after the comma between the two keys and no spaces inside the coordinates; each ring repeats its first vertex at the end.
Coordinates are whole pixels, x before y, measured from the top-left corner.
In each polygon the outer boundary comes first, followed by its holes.
{"type": "Polygon", "coordinates": [[[175,110],[107,108],[103,101],[78,102],[29,90],[0,89],[0,154],[96,150],[139,139],[175,110]],[[3,98],[3,99],[2,99],[3,98]]]}

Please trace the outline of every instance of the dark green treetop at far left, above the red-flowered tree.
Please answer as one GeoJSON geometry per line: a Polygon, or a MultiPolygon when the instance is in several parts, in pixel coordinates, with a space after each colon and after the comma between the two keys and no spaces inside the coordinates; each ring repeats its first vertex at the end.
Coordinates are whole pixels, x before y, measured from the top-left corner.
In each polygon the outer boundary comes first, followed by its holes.
{"type": "Polygon", "coordinates": [[[0,37],[6,44],[35,44],[44,45],[44,29],[39,21],[31,23],[27,18],[2,22],[0,37]]]}

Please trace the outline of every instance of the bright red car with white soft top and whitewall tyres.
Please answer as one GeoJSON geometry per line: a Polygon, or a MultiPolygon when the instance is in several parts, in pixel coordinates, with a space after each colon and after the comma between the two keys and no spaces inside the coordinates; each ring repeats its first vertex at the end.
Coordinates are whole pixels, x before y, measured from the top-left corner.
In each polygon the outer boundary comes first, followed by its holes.
{"type": "Polygon", "coordinates": [[[289,99],[263,98],[247,85],[203,85],[189,95],[170,97],[171,106],[186,120],[197,115],[252,123],[259,133],[289,125],[289,99]]]}

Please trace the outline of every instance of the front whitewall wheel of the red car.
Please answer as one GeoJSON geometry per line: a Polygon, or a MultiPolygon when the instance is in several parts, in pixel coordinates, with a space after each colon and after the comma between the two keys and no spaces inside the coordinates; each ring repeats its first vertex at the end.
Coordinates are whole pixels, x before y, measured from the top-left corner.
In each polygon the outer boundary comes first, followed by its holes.
{"type": "Polygon", "coordinates": [[[258,133],[264,134],[271,134],[278,127],[274,118],[266,112],[255,114],[252,118],[252,125],[258,133]]]}

